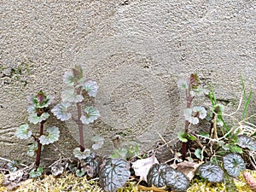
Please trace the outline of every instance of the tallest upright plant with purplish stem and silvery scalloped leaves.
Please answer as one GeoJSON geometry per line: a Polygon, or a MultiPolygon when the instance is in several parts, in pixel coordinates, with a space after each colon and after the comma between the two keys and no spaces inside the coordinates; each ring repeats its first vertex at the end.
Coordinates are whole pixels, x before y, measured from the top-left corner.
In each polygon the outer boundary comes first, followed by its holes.
{"type": "MultiPolygon", "coordinates": [[[[66,85],[61,92],[62,102],[57,104],[51,111],[57,119],[66,121],[73,119],[79,127],[79,148],[73,150],[73,154],[79,160],[84,160],[90,156],[90,148],[84,148],[84,125],[93,123],[100,117],[100,113],[92,106],[86,106],[86,98],[95,97],[98,85],[96,81],[84,77],[84,70],[80,65],[76,65],[63,75],[63,82],[66,85]],[[77,115],[70,112],[70,108],[76,107],[77,115]]],[[[101,148],[102,137],[93,137],[93,149],[101,148]]]]}

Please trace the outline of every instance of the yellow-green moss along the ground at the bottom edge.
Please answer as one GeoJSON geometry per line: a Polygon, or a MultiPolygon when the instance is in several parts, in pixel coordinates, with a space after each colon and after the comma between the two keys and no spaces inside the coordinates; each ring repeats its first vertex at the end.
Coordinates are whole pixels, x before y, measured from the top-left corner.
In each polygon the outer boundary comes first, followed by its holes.
{"type": "MultiPolygon", "coordinates": [[[[247,171],[249,172],[249,171],[247,171]]],[[[256,181],[256,171],[250,172],[252,177],[256,181]]],[[[8,187],[3,186],[3,174],[0,174],[0,192],[11,191],[8,187]]],[[[243,177],[243,173],[234,179],[236,189],[238,192],[253,192],[254,190],[247,184],[246,179],[243,177]]],[[[65,173],[60,177],[54,177],[52,175],[44,175],[43,178],[38,179],[27,179],[20,183],[20,186],[12,190],[15,192],[36,192],[36,191],[51,191],[51,192],[61,192],[61,191],[76,191],[76,192],[104,192],[104,190],[99,187],[96,180],[88,180],[86,177],[76,177],[73,173],[65,173]]],[[[119,189],[117,192],[145,192],[145,191],[157,191],[164,192],[164,189],[156,188],[146,188],[138,185],[137,182],[128,182],[125,187],[119,189]]],[[[193,179],[187,192],[225,192],[229,191],[228,186],[224,183],[208,183],[202,182],[198,179],[193,179]]]]}

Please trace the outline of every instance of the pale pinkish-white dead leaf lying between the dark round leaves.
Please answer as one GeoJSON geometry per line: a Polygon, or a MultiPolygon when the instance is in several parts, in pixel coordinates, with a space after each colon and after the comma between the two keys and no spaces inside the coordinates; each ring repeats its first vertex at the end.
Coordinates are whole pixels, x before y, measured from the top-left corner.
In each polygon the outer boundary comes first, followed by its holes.
{"type": "Polygon", "coordinates": [[[141,180],[147,182],[148,171],[154,164],[159,164],[159,162],[153,155],[152,157],[133,162],[131,167],[134,169],[136,176],[139,176],[141,180]]]}

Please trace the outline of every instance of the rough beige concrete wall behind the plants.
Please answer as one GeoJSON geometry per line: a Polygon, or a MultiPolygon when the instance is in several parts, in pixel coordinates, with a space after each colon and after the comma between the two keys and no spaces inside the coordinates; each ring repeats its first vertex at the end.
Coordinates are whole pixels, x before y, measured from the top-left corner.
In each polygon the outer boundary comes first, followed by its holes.
{"type": "MultiPolygon", "coordinates": [[[[29,160],[31,141],[14,137],[27,122],[26,97],[42,89],[60,102],[62,74],[73,64],[99,84],[102,116],[84,126],[86,141],[105,137],[103,154],[116,134],[144,151],[162,143],[159,134],[176,143],[183,122],[177,77],[198,73],[233,109],[241,74],[255,90],[255,25],[254,0],[2,0],[0,156],[29,160]]],[[[58,146],[70,153],[73,124],[49,123],[61,125],[58,146]]]]}

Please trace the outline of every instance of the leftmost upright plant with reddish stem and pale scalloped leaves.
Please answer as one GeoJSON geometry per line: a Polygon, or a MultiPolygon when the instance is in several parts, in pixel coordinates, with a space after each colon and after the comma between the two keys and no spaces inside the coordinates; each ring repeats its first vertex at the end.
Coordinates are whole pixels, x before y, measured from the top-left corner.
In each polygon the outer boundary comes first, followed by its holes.
{"type": "Polygon", "coordinates": [[[36,168],[30,172],[31,177],[38,177],[42,174],[43,168],[40,167],[41,151],[44,145],[55,143],[60,137],[59,128],[56,126],[49,126],[44,128],[46,119],[49,118],[49,104],[53,101],[53,96],[46,96],[44,91],[38,91],[36,96],[29,98],[29,106],[27,108],[28,120],[31,124],[38,125],[39,131],[32,133],[32,128],[28,124],[20,125],[15,131],[15,137],[20,139],[28,139],[32,137],[32,143],[27,154],[33,156],[37,154],[35,166],[36,168]]]}

